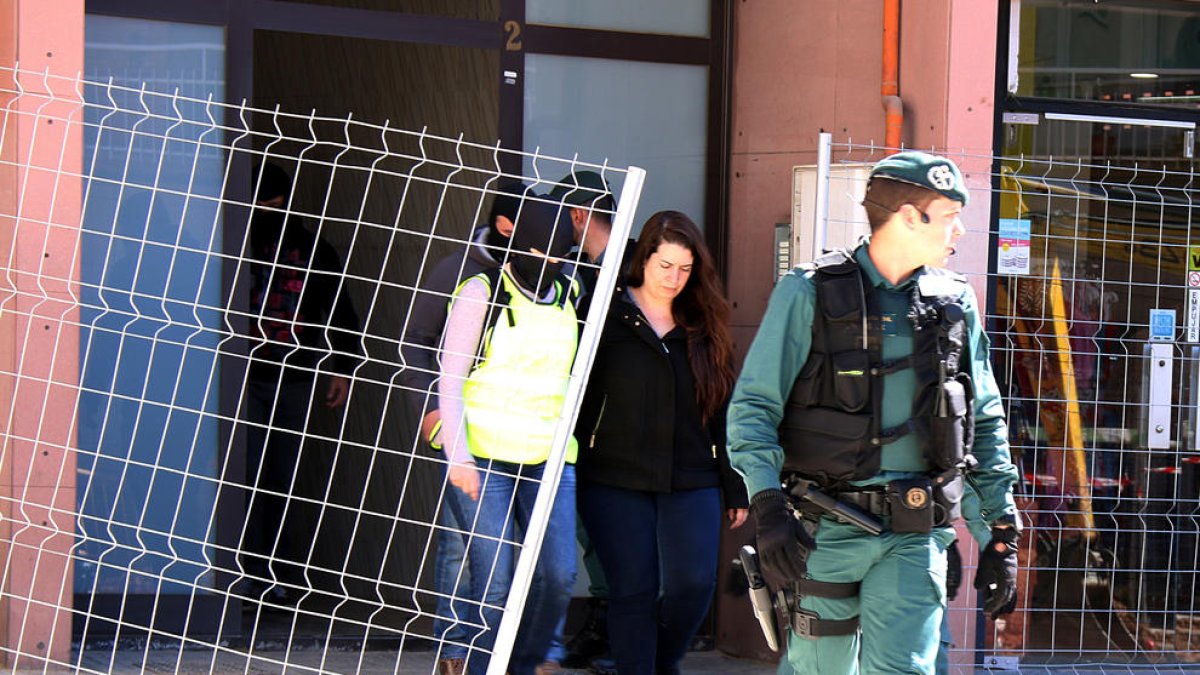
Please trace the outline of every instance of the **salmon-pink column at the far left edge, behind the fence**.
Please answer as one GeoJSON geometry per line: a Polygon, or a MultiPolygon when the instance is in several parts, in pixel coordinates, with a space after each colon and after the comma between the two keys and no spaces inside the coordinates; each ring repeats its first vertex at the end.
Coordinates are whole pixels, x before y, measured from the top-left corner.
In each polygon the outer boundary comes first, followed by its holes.
{"type": "Polygon", "coordinates": [[[24,669],[71,657],[84,7],[0,13],[0,631],[24,669]]]}

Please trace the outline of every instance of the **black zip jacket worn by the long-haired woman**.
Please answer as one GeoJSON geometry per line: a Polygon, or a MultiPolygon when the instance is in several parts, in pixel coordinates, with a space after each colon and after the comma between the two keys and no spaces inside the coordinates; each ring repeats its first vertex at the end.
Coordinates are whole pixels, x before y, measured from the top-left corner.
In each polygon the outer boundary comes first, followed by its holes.
{"type": "Polygon", "coordinates": [[[725,410],[701,423],[686,350],[682,328],[660,340],[617,286],[575,426],[581,483],[654,492],[720,486],[725,508],[746,507],[725,452],[725,410]]]}

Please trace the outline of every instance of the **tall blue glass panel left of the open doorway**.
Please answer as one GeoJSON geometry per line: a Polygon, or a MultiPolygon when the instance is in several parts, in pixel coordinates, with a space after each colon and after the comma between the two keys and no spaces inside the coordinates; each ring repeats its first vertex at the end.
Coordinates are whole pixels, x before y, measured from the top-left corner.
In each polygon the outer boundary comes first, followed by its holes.
{"type": "Polygon", "coordinates": [[[226,155],[203,102],[224,96],[224,53],[220,26],[86,19],[74,561],[85,639],[120,638],[155,605],[155,627],[175,634],[220,613],[208,591],[226,155]]]}

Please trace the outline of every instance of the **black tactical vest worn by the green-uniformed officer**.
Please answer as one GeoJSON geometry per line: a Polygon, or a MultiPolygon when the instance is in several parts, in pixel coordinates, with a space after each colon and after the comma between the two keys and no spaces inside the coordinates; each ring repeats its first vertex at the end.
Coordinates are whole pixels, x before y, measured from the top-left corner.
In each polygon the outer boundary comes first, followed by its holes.
{"type": "Polygon", "coordinates": [[[907,434],[918,436],[931,470],[961,470],[972,461],[974,432],[961,305],[966,279],[926,269],[908,307],[913,353],[884,362],[875,287],[858,263],[850,252],[834,251],[814,265],[812,350],[779,428],[784,470],[823,488],[844,488],[878,473],[882,447],[907,434]],[[912,417],[881,429],[883,377],[906,368],[917,376],[912,417]]]}

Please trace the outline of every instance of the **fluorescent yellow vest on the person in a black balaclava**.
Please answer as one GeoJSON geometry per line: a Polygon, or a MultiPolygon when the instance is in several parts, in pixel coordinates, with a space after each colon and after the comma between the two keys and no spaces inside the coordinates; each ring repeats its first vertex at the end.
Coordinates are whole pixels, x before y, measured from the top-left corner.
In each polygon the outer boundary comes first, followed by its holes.
{"type": "MultiPolygon", "coordinates": [[[[463,384],[470,454],[514,464],[541,464],[550,456],[578,344],[572,301],[576,285],[554,281],[556,299],[535,303],[506,273],[490,270],[492,311],[480,340],[481,358],[463,384]]],[[[469,280],[468,280],[469,281],[469,280]]],[[[466,283],[466,281],[463,282],[466,283]]],[[[569,437],[566,461],[578,444],[569,437]]]]}

